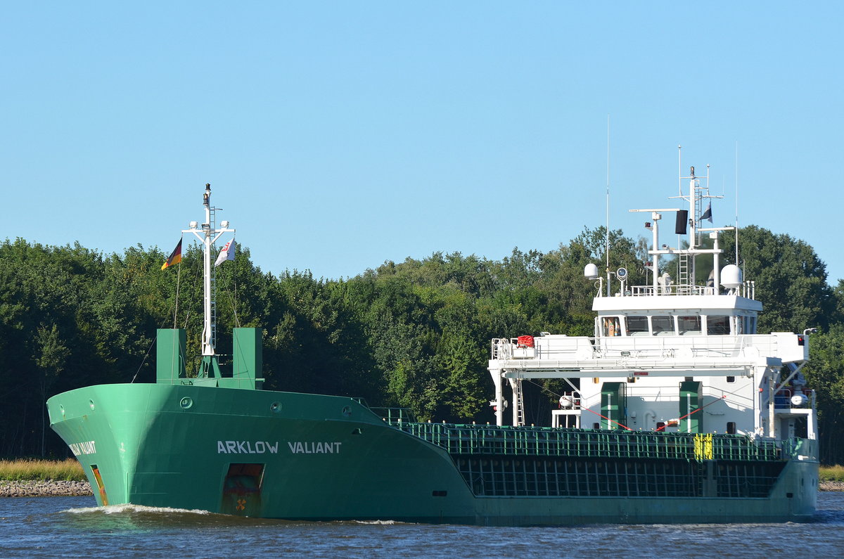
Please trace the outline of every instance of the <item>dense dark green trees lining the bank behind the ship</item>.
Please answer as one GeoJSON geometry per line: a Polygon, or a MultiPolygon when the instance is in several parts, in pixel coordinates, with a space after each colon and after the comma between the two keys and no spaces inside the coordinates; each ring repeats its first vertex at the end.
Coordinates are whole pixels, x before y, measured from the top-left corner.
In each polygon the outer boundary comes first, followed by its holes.
{"type": "MultiPolygon", "coordinates": [[[[733,262],[724,237],[722,262],[733,262]]],[[[219,352],[231,352],[233,326],[260,327],[265,388],[359,396],[423,421],[494,421],[490,339],[592,335],[595,286],[582,270],[604,262],[604,238],[603,227],[585,229],[555,250],[516,248],[500,260],[435,252],[349,279],[268,274],[238,246],[217,269],[219,352]]],[[[765,306],[760,333],[819,328],[803,373],[817,394],[822,461],[844,464],[844,281],[830,285],[812,247],[790,236],[749,226],[738,238],[741,267],[765,306]]],[[[610,267],[647,283],[646,243],[621,231],[609,240],[610,267]]],[[[166,256],[140,245],[103,254],[78,243],[0,243],[0,456],[69,456],[49,428],[46,399],[154,382],[156,328],[187,328],[187,366],[197,369],[202,255],[186,247],[181,273],[161,269],[166,256]]],[[[675,275],[672,263],[663,271],[675,275]]],[[[699,272],[705,281],[705,264],[699,272]]],[[[555,385],[525,389],[526,421],[547,425],[555,385]]]]}

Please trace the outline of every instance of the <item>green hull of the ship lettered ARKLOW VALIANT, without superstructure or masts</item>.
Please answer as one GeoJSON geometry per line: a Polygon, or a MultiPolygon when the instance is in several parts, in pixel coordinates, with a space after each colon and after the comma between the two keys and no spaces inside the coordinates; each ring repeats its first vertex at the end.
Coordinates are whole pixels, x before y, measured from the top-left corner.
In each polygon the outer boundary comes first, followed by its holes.
{"type": "Polygon", "coordinates": [[[782,522],[809,519],[818,490],[807,439],[715,435],[706,447],[407,423],[355,399],[167,383],[79,388],[47,405],[100,505],[509,526],[782,522]]]}

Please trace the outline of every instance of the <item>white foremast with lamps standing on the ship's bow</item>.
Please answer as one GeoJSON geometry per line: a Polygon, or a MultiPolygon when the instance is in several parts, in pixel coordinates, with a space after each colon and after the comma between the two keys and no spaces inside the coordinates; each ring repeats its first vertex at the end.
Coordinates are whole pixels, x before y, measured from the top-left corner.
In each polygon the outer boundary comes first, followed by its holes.
{"type": "Polygon", "coordinates": [[[219,377],[219,365],[217,362],[216,352],[216,328],[214,316],[214,295],[215,295],[215,277],[214,277],[214,263],[212,263],[212,256],[214,254],[214,243],[219,240],[220,236],[225,233],[235,233],[234,229],[229,228],[228,221],[220,222],[220,227],[216,226],[215,213],[217,209],[211,204],[211,185],[205,185],[205,192],[203,193],[203,207],[205,209],[205,220],[203,223],[197,224],[196,221],[190,223],[190,229],[182,230],[182,233],[192,233],[197,237],[203,246],[203,338],[202,338],[202,355],[203,361],[199,377],[208,377],[212,369],[216,374],[212,376],[219,377]]]}

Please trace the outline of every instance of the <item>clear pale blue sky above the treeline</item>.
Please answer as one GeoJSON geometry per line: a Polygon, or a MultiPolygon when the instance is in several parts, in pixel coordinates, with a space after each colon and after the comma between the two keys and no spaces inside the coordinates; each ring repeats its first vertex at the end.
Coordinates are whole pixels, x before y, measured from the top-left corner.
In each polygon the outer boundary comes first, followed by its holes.
{"type": "Polygon", "coordinates": [[[265,271],[636,238],[711,164],[716,225],[844,278],[842,3],[51,2],[0,19],[0,239],[169,252],[205,182],[265,271]],[[836,248],[837,247],[837,248],[836,248]]]}

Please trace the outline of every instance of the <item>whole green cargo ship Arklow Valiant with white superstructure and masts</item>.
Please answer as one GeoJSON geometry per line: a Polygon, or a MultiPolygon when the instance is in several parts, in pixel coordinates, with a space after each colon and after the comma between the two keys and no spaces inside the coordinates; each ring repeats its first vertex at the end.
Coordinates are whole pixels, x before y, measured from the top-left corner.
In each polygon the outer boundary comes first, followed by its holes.
{"type": "Polygon", "coordinates": [[[754,283],[720,267],[731,228],[701,223],[717,198],[708,176],[692,167],[685,178],[683,207],[631,210],[652,233],[647,285],[587,265],[593,336],[491,341],[495,425],[263,390],[257,328],[234,328],[224,361],[212,258],[234,230],[217,225],[206,186],[205,220],[182,231],[204,252],[198,371],[186,372],[185,330],[160,329],[155,383],[57,394],[51,427],[100,506],[506,526],[807,520],[818,491],[815,396],[801,373],[811,332],[756,334],[754,283]],[[663,215],[686,247],[660,245],[663,215]],[[701,255],[712,271],[697,285],[701,255]],[[527,425],[522,383],[548,378],[566,387],[559,409],[547,426],[527,425]]]}

